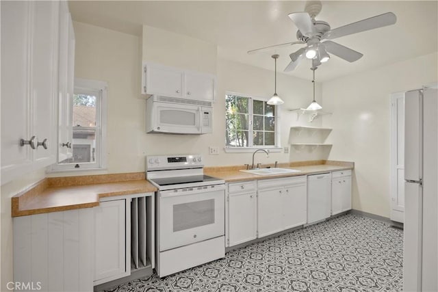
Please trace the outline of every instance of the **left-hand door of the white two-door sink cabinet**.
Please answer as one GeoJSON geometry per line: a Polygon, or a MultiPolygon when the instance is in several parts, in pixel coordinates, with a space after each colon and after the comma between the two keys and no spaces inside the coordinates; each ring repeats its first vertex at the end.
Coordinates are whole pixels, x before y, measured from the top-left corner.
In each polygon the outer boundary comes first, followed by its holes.
{"type": "Polygon", "coordinates": [[[282,196],[283,187],[259,190],[258,237],[264,237],[283,230],[282,196]]]}

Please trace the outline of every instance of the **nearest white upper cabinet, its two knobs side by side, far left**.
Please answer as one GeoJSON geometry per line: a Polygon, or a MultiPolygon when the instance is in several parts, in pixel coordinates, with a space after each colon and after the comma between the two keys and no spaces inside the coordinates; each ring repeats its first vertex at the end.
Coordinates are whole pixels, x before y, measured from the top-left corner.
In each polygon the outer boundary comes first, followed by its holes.
{"type": "Polygon", "coordinates": [[[1,2],[1,184],[56,161],[60,3],[1,2]]]}

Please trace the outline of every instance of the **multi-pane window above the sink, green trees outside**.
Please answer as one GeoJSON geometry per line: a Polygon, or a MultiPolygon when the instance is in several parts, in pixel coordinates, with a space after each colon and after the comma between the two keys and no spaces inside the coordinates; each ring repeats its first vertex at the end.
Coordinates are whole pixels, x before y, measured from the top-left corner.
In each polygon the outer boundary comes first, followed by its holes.
{"type": "MultiPolygon", "coordinates": [[[[225,96],[225,148],[279,148],[278,113],[261,98],[225,96]]],[[[230,151],[228,151],[230,152],[230,151]]]]}

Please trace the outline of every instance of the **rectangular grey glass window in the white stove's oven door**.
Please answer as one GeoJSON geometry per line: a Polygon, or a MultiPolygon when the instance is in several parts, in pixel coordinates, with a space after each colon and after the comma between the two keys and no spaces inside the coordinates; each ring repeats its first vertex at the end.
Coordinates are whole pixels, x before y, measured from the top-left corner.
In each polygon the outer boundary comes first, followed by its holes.
{"type": "Polygon", "coordinates": [[[214,199],[173,205],[173,232],[214,224],[214,199]]]}

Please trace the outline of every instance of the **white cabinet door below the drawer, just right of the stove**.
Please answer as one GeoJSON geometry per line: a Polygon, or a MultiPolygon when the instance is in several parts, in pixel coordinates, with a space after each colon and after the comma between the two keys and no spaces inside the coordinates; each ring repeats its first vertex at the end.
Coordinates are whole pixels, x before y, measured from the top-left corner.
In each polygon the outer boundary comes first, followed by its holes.
{"type": "Polygon", "coordinates": [[[229,195],[229,246],[257,237],[256,202],[255,191],[229,195]]]}

